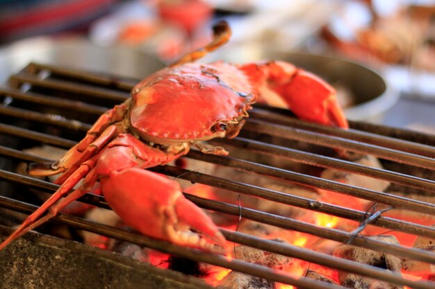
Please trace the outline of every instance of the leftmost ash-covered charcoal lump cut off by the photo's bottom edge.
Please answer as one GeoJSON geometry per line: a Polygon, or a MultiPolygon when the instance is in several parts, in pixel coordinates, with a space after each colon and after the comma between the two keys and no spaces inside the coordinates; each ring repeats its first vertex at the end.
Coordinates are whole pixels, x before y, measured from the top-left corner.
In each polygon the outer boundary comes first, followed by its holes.
{"type": "Polygon", "coordinates": [[[248,274],[231,271],[219,284],[227,289],[274,289],[274,282],[248,274]]]}

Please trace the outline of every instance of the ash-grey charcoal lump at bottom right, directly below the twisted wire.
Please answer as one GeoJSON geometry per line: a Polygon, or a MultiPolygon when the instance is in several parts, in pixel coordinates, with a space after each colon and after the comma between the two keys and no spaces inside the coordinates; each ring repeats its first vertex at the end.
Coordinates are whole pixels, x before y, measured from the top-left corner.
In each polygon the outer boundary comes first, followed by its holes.
{"type": "MultiPolygon", "coordinates": [[[[398,245],[399,242],[395,236],[391,235],[379,235],[379,236],[367,236],[367,238],[373,240],[380,240],[385,243],[391,243],[398,245]]],[[[400,273],[402,269],[402,262],[396,256],[391,254],[384,254],[382,252],[373,251],[370,249],[365,249],[361,247],[356,247],[354,245],[340,245],[334,250],[334,256],[356,261],[359,263],[372,265],[378,268],[383,268],[393,272],[400,273]]],[[[350,288],[363,288],[363,289],[401,289],[402,286],[395,286],[392,284],[387,284],[382,281],[376,281],[368,277],[359,276],[357,274],[352,274],[348,272],[339,271],[338,279],[341,285],[350,288]]]]}

